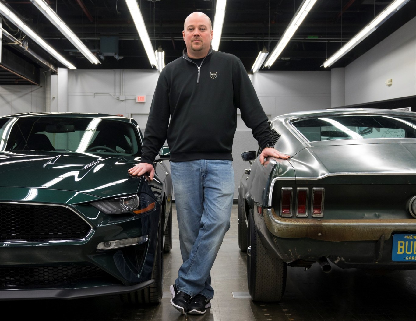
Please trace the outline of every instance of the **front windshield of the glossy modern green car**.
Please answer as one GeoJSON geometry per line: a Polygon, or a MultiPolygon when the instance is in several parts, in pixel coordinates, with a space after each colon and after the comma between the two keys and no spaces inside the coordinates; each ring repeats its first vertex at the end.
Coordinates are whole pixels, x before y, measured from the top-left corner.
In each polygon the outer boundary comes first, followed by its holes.
{"type": "Polygon", "coordinates": [[[108,153],[141,151],[134,125],[101,118],[12,117],[0,119],[0,151],[108,153]]]}

